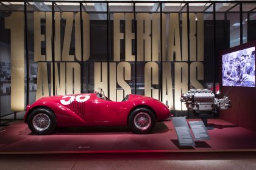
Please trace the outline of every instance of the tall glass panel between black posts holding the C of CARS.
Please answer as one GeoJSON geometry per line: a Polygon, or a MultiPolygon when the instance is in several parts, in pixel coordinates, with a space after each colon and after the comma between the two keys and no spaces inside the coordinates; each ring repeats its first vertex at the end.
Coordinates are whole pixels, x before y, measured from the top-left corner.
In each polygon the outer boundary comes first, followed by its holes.
{"type": "Polygon", "coordinates": [[[143,4],[136,4],[137,94],[161,100],[160,4],[143,4]]]}

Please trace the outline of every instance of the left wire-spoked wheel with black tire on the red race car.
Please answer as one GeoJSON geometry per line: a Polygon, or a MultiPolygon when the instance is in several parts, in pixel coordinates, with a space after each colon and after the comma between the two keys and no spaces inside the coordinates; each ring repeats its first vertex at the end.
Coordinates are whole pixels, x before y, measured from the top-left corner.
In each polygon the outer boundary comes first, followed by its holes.
{"type": "Polygon", "coordinates": [[[30,131],[37,135],[53,134],[57,127],[54,113],[46,108],[38,108],[31,112],[27,118],[30,131]]]}

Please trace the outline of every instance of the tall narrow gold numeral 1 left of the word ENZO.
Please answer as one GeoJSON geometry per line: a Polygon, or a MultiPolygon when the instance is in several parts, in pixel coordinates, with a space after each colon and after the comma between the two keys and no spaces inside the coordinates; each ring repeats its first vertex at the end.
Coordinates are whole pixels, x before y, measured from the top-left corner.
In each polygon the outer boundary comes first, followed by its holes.
{"type": "Polygon", "coordinates": [[[24,75],[24,13],[13,12],[5,18],[5,29],[10,29],[11,49],[11,109],[25,109],[24,75]]]}

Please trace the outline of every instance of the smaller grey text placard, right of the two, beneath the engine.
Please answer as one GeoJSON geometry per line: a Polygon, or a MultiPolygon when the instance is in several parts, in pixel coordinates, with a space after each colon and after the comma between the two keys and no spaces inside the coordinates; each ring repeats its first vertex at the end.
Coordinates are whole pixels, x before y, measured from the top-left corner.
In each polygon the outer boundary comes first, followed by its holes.
{"type": "Polygon", "coordinates": [[[188,121],[194,134],[194,140],[210,140],[210,135],[202,121],[188,121]]]}

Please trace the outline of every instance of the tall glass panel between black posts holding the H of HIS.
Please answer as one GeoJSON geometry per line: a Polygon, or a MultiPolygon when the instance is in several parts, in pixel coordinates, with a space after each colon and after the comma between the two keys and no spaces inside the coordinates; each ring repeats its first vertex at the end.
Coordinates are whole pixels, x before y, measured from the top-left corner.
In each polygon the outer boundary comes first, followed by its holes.
{"type": "MultiPolygon", "coordinates": [[[[87,10],[91,6],[84,3],[84,7],[87,10]]],[[[90,23],[90,41],[87,39],[87,47],[90,46],[90,53],[84,63],[84,92],[93,93],[101,88],[107,95],[107,4],[94,3],[93,12],[87,13],[90,23]]]]}

